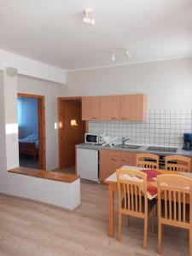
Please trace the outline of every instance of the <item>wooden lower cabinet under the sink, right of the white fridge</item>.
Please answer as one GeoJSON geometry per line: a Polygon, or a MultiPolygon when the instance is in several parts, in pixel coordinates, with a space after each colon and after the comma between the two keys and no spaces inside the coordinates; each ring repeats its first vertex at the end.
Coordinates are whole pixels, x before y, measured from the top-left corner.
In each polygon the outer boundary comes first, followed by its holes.
{"type": "Polygon", "coordinates": [[[136,166],[136,153],[123,150],[100,150],[101,181],[104,181],[122,166],[136,166]]]}

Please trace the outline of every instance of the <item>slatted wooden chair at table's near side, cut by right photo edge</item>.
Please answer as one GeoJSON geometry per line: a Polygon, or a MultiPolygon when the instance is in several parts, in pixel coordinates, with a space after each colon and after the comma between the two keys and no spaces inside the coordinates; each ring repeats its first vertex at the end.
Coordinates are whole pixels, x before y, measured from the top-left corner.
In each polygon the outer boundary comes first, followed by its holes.
{"type": "Polygon", "coordinates": [[[162,225],[189,230],[189,255],[192,255],[192,179],[165,174],[157,177],[158,185],[158,247],[161,253],[162,225]],[[189,204],[188,204],[189,203],[189,204]]]}

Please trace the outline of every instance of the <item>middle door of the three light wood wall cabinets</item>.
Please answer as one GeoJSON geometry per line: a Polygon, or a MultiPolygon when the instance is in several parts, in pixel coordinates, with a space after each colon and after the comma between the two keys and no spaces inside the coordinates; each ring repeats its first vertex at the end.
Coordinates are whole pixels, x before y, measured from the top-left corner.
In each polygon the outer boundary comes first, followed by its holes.
{"type": "Polygon", "coordinates": [[[101,96],[101,120],[120,119],[120,96],[101,96]]]}

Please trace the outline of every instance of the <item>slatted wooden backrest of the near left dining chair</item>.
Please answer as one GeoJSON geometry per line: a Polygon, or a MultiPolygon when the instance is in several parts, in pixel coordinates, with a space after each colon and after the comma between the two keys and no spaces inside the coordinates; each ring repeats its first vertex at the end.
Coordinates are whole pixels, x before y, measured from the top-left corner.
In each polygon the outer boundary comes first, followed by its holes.
{"type": "Polygon", "coordinates": [[[147,174],[137,170],[119,169],[116,175],[119,211],[143,218],[148,214],[147,174]]]}

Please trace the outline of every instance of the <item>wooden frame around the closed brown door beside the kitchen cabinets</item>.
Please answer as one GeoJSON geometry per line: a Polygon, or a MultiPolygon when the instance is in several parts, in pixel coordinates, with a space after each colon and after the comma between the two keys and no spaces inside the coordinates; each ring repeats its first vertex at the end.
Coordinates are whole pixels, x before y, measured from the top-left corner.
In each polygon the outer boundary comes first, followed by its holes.
{"type": "MultiPolygon", "coordinates": [[[[58,97],[57,106],[58,106],[58,162],[59,169],[61,169],[61,127],[62,127],[62,117],[61,117],[61,102],[63,101],[81,101],[82,96],[73,96],[73,97],[58,97]]],[[[88,131],[88,122],[85,121],[85,131],[88,131]]],[[[76,161],[76,155],[75,155],[76,161]]],[[[76,166],[76,165],[75,165],[76,166]]]]}

